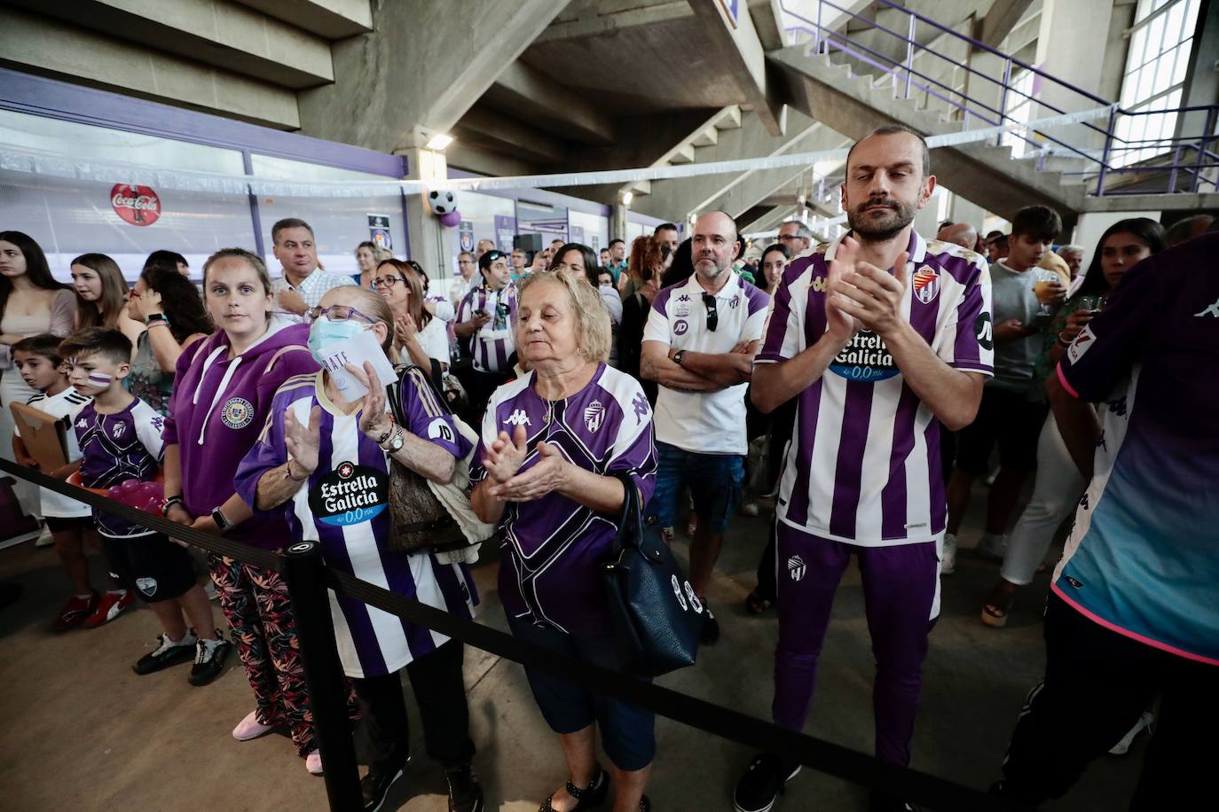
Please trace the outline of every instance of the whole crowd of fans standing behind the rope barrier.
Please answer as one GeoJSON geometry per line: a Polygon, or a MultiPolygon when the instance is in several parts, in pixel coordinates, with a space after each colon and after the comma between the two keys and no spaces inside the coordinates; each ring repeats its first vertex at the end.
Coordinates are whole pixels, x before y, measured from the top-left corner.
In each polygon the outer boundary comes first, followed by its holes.
{"type": "MultiPolygon", "coordinates": [[[[473,617],[477,543],[394,541],[402,492],[390,483],[405,472],[463,530],[496,528],[513,634],[614,668],[597,567],[625,488],[638,488],[649,528],[690,537],[690,598],[708,645],[729,521],[762,515],[768,543],[746,607],[778,610],[774,721],[798,730],[807,719],[855,556],[876,659],[876,755],[895,765],[909,762],[941,578],[956,569],[976,480],[991,487],[970,547],[1002,561],[979,605],[990,627],[1007,622],[1079,506],[1052,579],[1046,681],[993,791],[1063,794],[1090,760],[1129,744],[1162,694],[1139,790],[1152,808],[1181,791],[1199,758],[1186,743],[1215,721],[1206,679],[1219,663],[1219,554],[1199,539],[1219,519],[1219,237],[1197,219],[1165,234],[1132,218],[1096,246],[1062,245],[1062,219],[1045,206],[1019,211],[1008,234],[945,223],[924,236],[912,224],[934,185],[923,140],[889,127],[851,150],[851,231],[831,243],[787,222],[773,245],[746,252],[733,219],[707,212],[684,241],[666,223],[600,256],[558,240],[506,254],[480,240],[435,284],[372,242],[355,250],[357,278],[325,271],[312,228],[285,219],[272,230],[275,279],[258,256],[226,248],[204,263],[200,292],[185,259],[158,251],[128,287],[113,259],[87,253],[68,289],[33,239],[0,231],[0,401],[71,426],[69,463],[46,471],[57,478],[100,492],[160,480],[174,522],[269,550],[317,541],[336,570],[473,617]],[[334,360],[364,340],[366,363],[334,360]],[[1174,387],[1203,379],[1209,399],[1176,425],[1174,387]],[[1159,457],[1131,464],[1125,449],[1148,436],[1159,457]],[[1169,463],[1189,467],[1193,486],[1165,487],[1181,476],[1169,463]],[[1154,495],[1132,495],[1141,487],[1154,495]]],[[[12,443],[18,463],[38,465],[20,432],[12,443]]],[[[101,626],[139,597],[160,634],[137,673],[191,662],[189,682],[206,685],[235,648],[254,710],[234,738],[285,726],[308,771],[322,771],[278,573],[207,558],[226,637],[184,544],[51,492],[38,508],[72,592],[57,631],[101,626]],[[111,573],[104,587],[89,577],[90,539],[111,573]]],[[[483,808],[461,643],[351,598],[332,609],[349,710],[373,749],[367,808],[407,760],[403,670],[450,810],[483,808]]],[[[566,783],[541,810],[589,808],[611,785],[618,812],[650,808],[652,715],[527,676],[566,760],[566,783]]],[[[798,771],[759,754],[736,808],[769,810],[798,771]]],[[[876,794],[873,808],[913,807],[876,794]]]]}

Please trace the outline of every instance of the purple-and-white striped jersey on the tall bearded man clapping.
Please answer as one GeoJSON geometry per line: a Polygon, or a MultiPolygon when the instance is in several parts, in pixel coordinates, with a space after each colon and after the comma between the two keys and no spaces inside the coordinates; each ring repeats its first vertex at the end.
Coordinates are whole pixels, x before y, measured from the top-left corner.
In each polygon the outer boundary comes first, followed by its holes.
{"type": "MultiPolygon", "coordinates": [[[[792,259],[756,363],[795,358],[825,332],[826,263],[837,242],[792,259]]],[[[902,309],[953,369],[993,374],[986,261],[911,233],[902,309]]],[[[906,385],[885,342],[861,331],[797,397],[779,519],[861,547],[935,541],[947,522],[940,421],[906,385]]]]}

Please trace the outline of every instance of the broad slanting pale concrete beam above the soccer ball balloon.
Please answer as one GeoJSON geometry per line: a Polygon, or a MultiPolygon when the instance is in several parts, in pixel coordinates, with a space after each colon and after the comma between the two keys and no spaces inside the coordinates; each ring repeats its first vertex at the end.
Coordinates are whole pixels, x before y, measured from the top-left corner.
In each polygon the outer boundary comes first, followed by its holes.
{"type": "Polygon", "coordinates": [[[334,84],[299,95],[302,129],[383,152],[423,146],[429,133],[453,127],[564,5],[484,2],[467,15],[430,0],[382,4],[374,32],[332,46],[334,84]]]}

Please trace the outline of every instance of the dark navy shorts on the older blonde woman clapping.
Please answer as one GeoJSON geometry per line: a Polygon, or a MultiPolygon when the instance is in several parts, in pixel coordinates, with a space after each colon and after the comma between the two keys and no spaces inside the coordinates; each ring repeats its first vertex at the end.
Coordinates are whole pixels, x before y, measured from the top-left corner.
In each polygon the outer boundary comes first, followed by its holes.
{"type": "MultiPolygon", "coordinates": [[[[584,662],[620,670],[612,638],[568,634],[550,626],[535,626],[508,616],[514,637],[562,651],[584,662]]],[[[656,715],[612,696],[592,694],[579,683],[525,667],[529,689],[542,718],[555,733],[575,733],[594,722],[601,729],[601,746],[618,769],[642,769],[656,757],[656,715]]],[[[640,679],[641,677],[623,677],[640,679]]]]}

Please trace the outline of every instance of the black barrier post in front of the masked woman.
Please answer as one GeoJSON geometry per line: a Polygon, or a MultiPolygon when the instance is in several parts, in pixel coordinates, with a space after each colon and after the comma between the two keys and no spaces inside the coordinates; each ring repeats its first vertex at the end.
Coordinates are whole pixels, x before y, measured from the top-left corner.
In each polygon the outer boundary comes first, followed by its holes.
{"type": "Polygon", "coordinates": [[[284,551],[284,581],[301,643],[325,796],[332,812],[355,812],[363,808],[363,799],[324,573],[322,548],[317,542],[293,544],[284,551]]]}

